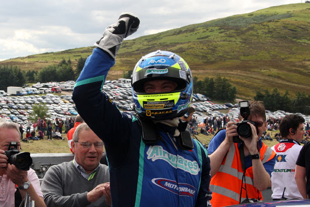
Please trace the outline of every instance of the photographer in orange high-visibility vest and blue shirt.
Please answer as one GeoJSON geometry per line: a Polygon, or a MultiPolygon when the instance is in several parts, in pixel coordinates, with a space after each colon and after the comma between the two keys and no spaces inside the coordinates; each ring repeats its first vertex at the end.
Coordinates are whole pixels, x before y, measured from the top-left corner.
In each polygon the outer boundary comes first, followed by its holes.
{"type": "MultiPolygon", "coordinates": [[[[246,116],[241,109],[240,115],[244,118],[246,116]]],[[[228,122],[226,130],[219,131],[210,141],[208,153],[211,154],[213,207],[263,200],[261,191],[271,186],[275,152],[260,139],[267,129],[265,107],[255,101],[246,109],[248,121],[256,125],[243,123],[250,125],[250,137],[244,138],[237,133],[237,125],[242,122],[228,122]],[[241,143],[235,143],[235,137],[241,143]]]]}

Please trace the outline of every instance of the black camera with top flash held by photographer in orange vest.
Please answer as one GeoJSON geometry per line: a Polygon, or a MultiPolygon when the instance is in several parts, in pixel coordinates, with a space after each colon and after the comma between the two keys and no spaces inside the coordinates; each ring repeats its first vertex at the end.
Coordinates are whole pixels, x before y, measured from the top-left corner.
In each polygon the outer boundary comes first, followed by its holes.
{"type": "MultiPolygon", "coordinates": [[[[236,123],[237,126],[237,133],[240,137],[249,138],[252,136],[252,129],[250,124],[253,124],[256,127],[256,132],[258,134],[258,127],[254,122],[251,122],[247,120],[251,115],[250,110],[250,102],[247,100],[239,101],[239,107],[240,107],[240,115],[243,118],[241,122],[236,123]]],[[[235,143],[242,143],[243,141],[239,138],[239,136],[234,136],[232,138],[233,142],[235,143]]]]}

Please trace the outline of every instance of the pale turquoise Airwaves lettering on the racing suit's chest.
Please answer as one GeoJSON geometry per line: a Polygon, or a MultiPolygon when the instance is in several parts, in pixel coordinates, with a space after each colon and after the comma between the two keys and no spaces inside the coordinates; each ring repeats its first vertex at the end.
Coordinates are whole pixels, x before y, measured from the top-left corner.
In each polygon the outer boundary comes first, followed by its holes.
{"type": "Polygon", "coordinates": [[[153,162],[156,160],[163,160],[170,164],[173,168],[184,170],[192,175],[197,175],[200,172],[197,161],[190,161],[182,156],[171,154],[164,150],[162,146],[150,146],[146,153],[148,155],[147,159],[152,159],[153,162]]]}

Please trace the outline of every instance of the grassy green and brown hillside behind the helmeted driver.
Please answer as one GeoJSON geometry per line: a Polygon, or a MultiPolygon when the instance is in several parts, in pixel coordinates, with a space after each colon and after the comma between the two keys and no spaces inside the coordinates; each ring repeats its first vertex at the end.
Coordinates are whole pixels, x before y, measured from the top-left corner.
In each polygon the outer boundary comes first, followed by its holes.
{"type": "MultiPolygon", "coordinates": [[[[142,20],[143,22],[143,20],[142,20]]],[[[94,40],[95,41],[95,40],[94,40]]],[[[93,47],[76,48],[10,59],[0,64],[29,70],[70,58],[73,63],[91,54],[93,47]]],[[[257,89],[288,89],[310,94],[310,4],[291,4],[216,19],[142,36],[123,42],[108,79],[132,70],[153,50],[174,51],[199,78],[225,76],[241,98],[257,89]]]]}

